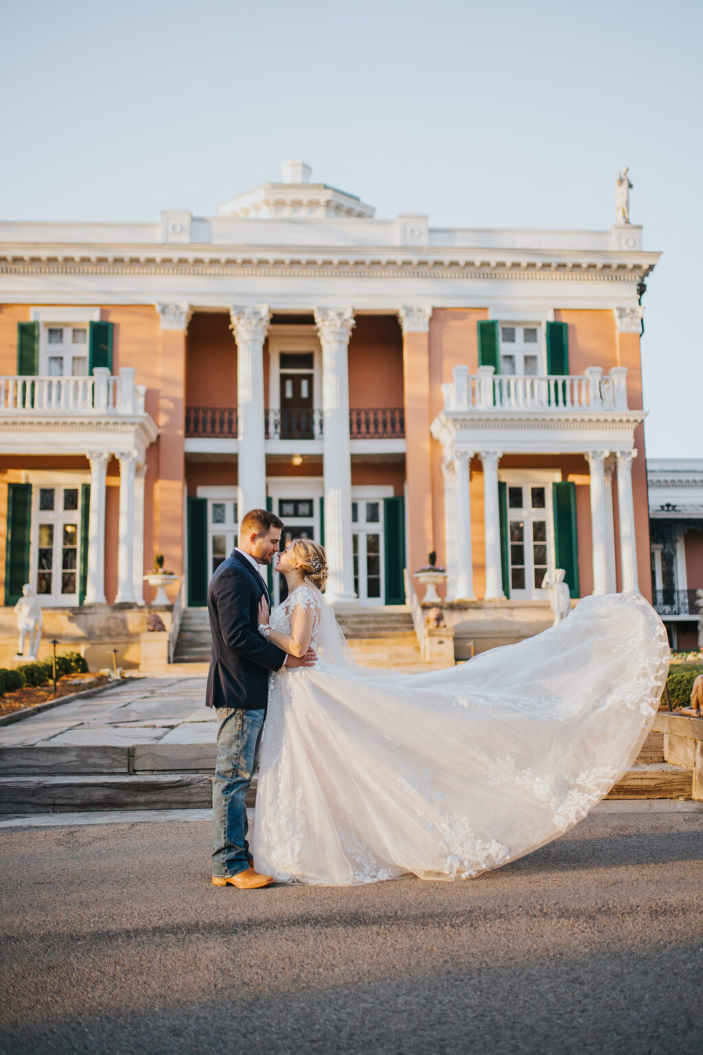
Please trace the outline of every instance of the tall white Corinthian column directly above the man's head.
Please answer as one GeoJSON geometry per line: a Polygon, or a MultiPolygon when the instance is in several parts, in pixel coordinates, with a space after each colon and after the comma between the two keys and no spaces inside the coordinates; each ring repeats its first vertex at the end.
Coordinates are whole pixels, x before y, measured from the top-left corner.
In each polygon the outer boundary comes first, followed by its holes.
{"type": "Polygon", "coordinates": [[[268,304],[230,309],[237,342],[237,455],[239,520],[249,510],[266,507],[263,423],[263,341],[271,312],[268,304]]]}

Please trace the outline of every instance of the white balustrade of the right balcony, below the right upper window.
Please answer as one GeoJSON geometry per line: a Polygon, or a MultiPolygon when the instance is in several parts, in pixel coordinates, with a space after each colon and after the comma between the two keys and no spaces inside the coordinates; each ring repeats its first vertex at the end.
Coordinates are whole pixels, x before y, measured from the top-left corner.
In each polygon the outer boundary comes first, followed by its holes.
{"type": "Polygon", "coordinates": [[[627,368],[613,367],[603,375],[589,366],[582,375],[528,377],[495,375],[492,366],[477,373],[455,366],[453,381],[444,384],[445,410],[626,410],[627,368]]]}

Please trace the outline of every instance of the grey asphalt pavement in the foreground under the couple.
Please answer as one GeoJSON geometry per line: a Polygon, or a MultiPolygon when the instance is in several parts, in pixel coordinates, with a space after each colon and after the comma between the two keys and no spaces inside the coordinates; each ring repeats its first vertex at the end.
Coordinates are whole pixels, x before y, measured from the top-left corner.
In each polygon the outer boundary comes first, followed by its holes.
{"type": "Polygon", "coordinates": [[[701,811],[457,883],[218,889],[209,852],[203,818],[0,831],[0,1051],[703,1051],[701,811]]]}

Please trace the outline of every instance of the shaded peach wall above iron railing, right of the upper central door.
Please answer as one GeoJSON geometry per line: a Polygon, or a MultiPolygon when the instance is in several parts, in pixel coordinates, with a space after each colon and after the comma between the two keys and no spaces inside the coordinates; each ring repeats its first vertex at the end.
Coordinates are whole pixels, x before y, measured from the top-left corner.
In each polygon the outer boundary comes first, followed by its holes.
{"type": "Polygon", "coordinates": [[[403,406],[403,334],[395,315],[357,315],[349,342],[349,406],[403,406]]]}

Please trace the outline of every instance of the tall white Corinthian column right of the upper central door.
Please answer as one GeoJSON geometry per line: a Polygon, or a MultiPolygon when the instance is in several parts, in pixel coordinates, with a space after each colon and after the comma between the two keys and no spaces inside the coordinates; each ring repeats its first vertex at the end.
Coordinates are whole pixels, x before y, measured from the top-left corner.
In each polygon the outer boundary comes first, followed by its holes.
{"type": "Polygon", "coordinates": [[[326,596],[353,601],[348,347],[354,313],[351,308],[315,308],[315,323],[323,346],[326,596]]]}

